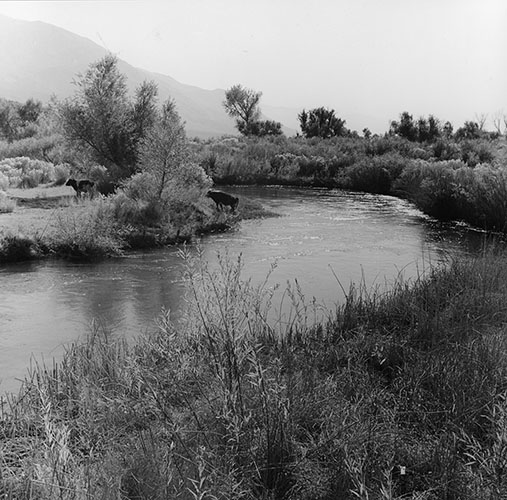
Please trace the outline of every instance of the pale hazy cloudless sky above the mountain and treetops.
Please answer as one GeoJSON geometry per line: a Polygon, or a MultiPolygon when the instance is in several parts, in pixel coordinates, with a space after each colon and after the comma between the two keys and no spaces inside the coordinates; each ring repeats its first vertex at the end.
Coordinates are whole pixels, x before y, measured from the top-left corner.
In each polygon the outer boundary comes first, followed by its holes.
{"type": "Polygon", "coordinates": [[[385,128],[405,110],[457,126],[507,113],[505,0],[0,1],[0,14],[182,83],[241,83],[261,107],[325,106],[385,128]]]}

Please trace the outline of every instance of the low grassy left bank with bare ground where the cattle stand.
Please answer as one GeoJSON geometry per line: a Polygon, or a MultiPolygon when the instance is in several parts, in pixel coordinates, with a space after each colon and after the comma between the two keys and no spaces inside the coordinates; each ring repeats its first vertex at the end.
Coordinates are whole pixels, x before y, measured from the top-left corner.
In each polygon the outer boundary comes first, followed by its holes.
{"type": "MultiPolygon", "coordinates": [[[[136,223],[135,213],[112,198],[78,200],[68,186],[11,189],[11,212],[0,213],[0,263],[46,257],[93,259],[127,250],[191,241],[197,235],[232,229],[244,219],[274,216],[242,199],[235,213],[217,211],[210,200],[182,205],[165,223],[136,223]]],[[[141,209],[137,209],[139,212],[141,209]]]]}

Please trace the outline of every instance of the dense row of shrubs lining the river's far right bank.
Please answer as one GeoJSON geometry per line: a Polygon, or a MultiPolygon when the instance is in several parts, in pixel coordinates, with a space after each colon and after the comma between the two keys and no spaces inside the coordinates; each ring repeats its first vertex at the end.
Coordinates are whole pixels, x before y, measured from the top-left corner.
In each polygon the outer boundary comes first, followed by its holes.
{"type": "Polygon", "coordinates": [[[194,142],[217,183],[338,187],[407,198],[442,220],[505,231],[507,159],[502,139],[395,136],[241,138],[194,142]]]}

